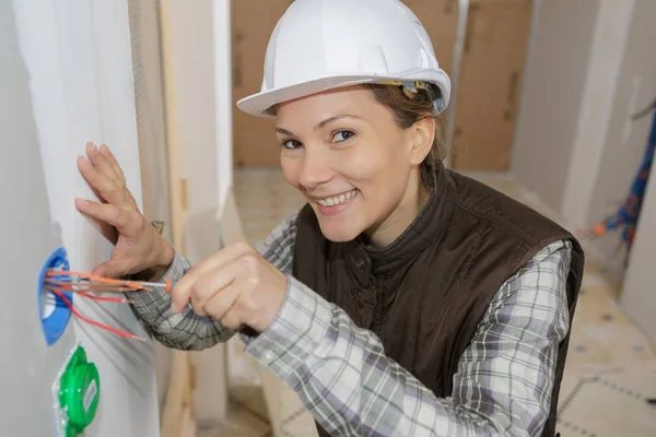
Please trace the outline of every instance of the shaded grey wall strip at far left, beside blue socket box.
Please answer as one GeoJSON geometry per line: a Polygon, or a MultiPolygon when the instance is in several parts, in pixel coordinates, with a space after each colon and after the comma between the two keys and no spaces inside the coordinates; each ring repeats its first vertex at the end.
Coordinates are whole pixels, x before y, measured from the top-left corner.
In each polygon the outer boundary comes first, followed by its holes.
{"type": "Polygon", "coordinates": [[[72,329],[48,347],[39,327],[36,277],[60,231],[50,220],[30,76],[19,51],[11,0],[0,0],[0,307],[3,436],[51,436],[50,385],[74,344],[72,329]]]}

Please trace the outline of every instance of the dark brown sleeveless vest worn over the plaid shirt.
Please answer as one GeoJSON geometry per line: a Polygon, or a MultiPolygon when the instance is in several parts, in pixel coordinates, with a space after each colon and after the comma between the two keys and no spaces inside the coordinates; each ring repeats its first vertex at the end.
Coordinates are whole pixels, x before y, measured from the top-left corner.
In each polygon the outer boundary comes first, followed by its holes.
{"type": "MultiPolygon", "coordinates": [[[[375,332],[388,357],[444,398],[452,395],[460,356],[501,285],[559,239],[573,245],[567,279],[572,321],[584,253],[567,231],[524,204],[443,166],[437,174],[426,205],[384,249],[372,248],[362,236],[328,241],[306,205],[297,221],[293,275],[375,332]]],[[[569,340],[570,334],[560,345],[542,436],[555,432],[569,340]]]]}

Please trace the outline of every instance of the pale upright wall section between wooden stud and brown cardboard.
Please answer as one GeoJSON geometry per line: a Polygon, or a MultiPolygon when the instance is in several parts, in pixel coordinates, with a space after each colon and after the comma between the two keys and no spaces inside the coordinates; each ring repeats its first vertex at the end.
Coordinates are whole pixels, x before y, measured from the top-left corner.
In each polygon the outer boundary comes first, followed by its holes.
{"type": "MultiPolygon", "coordinates": [[[[232,184],[232,144],[225,120],[231,111],[223,96],[225,71],[216,70],[230,54],[226,45],[215,40],[230,29],[215,28],[230,11],[226,1],[168,0],[165,16],[166,99],[169,129],[175,132],[172,154],[176,161],[172,184],[179,187],[179,244],[183,253],[196,263],[221,249],[219,214],[226,190],[232,184]],[[219,20],[219,23],[216,21],[219,20]],[[223,99],[222,99],[223,98],[223,99]],[[225,152],[227,149],[227,161],[225,152]]],[[[229,68],[230,66],[223,66],[229,68]]],[[[229,73],[230,74],[230,73],[229,73]]],[[[229,102],[232,105],[232,99],[229,102]]],[[[175,188],[175,187],[174,187],[175,188]]],[[[222,421],[227,412],[227,363],[225,345],[192,353],[197,369],[194,392],[195,418],[203,425],[222,421]]]]}

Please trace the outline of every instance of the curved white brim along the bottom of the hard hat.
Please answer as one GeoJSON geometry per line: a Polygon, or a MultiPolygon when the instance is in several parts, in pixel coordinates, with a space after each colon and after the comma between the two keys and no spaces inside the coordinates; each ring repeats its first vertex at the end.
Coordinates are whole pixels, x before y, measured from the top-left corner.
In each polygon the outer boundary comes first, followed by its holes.
{"type": "Polygon", "coordinates": [[[450,83],[448,75],[441,71],[421,71],[412,74],[399,76],[380,76],[380,75],[331,75],[315,79],[307,82],[302,82],[294,85],[283,86],[280,88],[273,88],[270,91],[260,92],[246,96],[237,102],[237,108],[244,113],[259,116],[259,117],[272,117],[269,109],[283,102],[294,101],[296,98],[307,97],[313,94],[321,93],[324,91],[335,90],[339,87],[345,87],[351,85],[360,85],[364,83],[376,83],[387,81],[423,81],[434,83],[442,91],[442,99],[444,101],[444,107],[448,104],[448,92],[450,83]]]}

